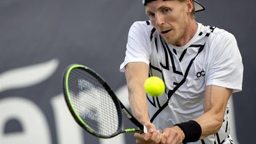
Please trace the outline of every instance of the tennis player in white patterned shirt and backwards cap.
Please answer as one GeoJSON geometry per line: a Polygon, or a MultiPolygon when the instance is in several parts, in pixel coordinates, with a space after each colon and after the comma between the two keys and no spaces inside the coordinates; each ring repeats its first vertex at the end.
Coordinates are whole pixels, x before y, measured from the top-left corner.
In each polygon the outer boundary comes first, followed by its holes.
{"type": "Polygon", "coordinates": [[[149,21],[130,27],[120,66],[132,113],[147,134],[137,143],[233,143],[229,135],[232,93],[242,90],[243,65],[236,38],[197,23],[195,0],[143,0],[149,21]],[[165,93],[148,96],[148,76],[165,81],[165,93]]]}

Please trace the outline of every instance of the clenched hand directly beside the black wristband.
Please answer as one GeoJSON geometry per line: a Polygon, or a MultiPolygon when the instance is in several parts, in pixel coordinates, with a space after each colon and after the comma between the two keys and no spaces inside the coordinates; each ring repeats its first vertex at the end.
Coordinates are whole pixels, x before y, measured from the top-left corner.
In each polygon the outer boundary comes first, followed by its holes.
{"type": "Polygon", "coordinates": [[[184,132],[178,126],[165,128],[161,135],[160,144],[181,144],[185,139],[184,132]]]}

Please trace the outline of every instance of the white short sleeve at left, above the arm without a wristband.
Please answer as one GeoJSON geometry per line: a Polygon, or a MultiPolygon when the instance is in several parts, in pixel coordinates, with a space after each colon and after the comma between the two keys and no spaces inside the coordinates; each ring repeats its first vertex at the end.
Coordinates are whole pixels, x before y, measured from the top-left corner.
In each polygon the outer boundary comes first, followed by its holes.
{"type": "Polygon", "coordinates": [[[150,46],[147,40],[149,39],[148,35],[147,25],[143,25],[143,22],[135,22],[132,24],[128,33],[126,57],[120,66],[121,72],[124,72],[124,67],[130,62],[141,61],[147,64],[150,63],[150,46]]]}

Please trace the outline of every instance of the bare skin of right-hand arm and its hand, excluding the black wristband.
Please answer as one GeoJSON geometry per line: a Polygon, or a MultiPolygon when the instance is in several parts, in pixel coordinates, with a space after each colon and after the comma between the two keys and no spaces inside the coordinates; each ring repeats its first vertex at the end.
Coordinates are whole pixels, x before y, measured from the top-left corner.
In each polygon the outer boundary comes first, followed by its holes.
{"type": "MultiPolygon", "coordinates": [[[[193,119],[201,126],[200,139],[204,139],[206,136],[220,130],[231,92],[231,89],[216,85],[208,85],[206,87],[204,113],[200,117],[193,119]]],[[[185,134],[179,126],[173,126],[163,131],[161,143],[178,143],[182,142],[184,138],[185,134]]]]}

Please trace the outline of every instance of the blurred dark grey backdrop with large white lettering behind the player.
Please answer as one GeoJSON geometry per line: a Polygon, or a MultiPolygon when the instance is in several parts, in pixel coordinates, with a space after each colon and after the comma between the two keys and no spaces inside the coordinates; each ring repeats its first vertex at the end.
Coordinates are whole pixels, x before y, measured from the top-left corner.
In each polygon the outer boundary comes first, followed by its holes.
{"type": "MultiPolygon", "coordinates": [[[[200,2],[206,10],[196,14],[197,22],[226,29],[238,41],[244,83],[230,102],[231,131],[237,143],[253,143],[256,2],[200,2]]],[[[141,0],[1,0],[0,143],[134,143],[133,134],[98,139],[76,126],[63,100],[61,76],[71,63],[88,66],[128,106],[119,65],[137,20],[147,20],[141,0]]]]}

